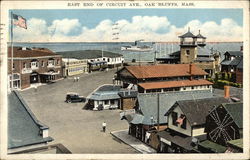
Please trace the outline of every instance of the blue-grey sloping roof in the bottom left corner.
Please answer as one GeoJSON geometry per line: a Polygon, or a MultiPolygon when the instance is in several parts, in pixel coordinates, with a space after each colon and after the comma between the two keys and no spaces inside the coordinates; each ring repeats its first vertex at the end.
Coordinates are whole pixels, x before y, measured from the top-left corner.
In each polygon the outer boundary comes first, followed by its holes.
{"type": "Polygon", "coordinates": [[[8,148],[23,147],[52,141],[43,138],[41,128],[48,128],[39,122],[18,92],[8,95],[8,148]]]}

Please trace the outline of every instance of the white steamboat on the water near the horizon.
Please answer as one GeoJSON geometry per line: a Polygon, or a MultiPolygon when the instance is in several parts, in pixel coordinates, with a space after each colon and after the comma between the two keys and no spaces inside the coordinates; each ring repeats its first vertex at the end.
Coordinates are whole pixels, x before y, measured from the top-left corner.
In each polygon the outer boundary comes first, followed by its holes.
{"type": "Polygon", "coordinates": [[[137,52],[149,52],[153,50],[153,47],[147,46],[147,45],[137,45],[138,42],[143,41],[143,40],[137,40],[135,41],[134,45],[127,45],[127,46],[122,46],[121,50],[122,51],[137,51],[137,52]]]}

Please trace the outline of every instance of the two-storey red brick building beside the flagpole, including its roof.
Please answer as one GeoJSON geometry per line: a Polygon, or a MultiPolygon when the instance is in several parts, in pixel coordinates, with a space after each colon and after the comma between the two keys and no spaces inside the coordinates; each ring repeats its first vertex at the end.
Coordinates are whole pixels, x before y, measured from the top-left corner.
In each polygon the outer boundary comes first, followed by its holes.
{"type": "Polygon", "coordinates": [[[45,48],[8,49],[9,88],[24,89],[36,83],[48,83],[62,78],[62,57],[45,48]],[[13,77],[12,77],[13,76],[13,77]]]}

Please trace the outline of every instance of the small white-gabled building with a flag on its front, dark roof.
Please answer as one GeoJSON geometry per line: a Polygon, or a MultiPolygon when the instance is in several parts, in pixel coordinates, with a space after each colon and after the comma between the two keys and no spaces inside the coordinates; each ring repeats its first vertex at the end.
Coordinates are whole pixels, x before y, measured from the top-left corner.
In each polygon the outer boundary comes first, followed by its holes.
{"type": "Polygon", "coordinates": [[[168,131],[159,133],[161,152],[194,152],[198,142],[206,140],[206,116],[214,105],[228,102],[223,97],[177,101],[166,113],[168,131]]]}

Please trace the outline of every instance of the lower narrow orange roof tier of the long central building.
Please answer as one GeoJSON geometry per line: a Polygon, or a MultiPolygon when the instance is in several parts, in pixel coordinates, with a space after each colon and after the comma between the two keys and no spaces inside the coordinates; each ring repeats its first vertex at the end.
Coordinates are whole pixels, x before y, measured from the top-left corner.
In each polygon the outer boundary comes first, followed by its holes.
{"type": "Polygon", "coordinates": [[[188,86],[211,85],[211,84],[213,83],[205,79],[200,79],[200,80],[149,82],[149,83],[139,83],[138,85],[144,89],[160,89],[160,88],[188,87],[188,86]]]}

